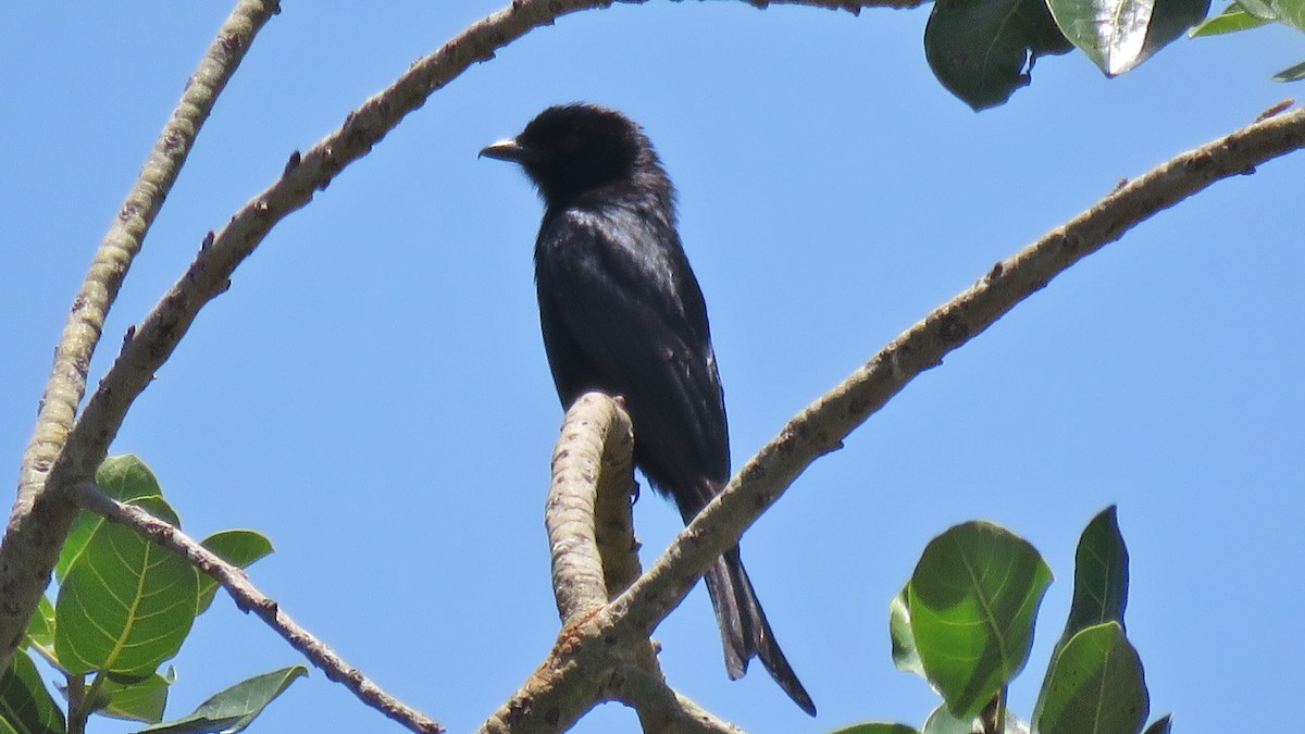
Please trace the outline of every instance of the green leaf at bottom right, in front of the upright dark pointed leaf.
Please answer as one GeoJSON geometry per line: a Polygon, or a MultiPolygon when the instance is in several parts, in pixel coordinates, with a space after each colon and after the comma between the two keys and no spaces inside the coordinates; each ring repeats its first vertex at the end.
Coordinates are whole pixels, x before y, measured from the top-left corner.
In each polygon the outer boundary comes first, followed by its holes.
{"type": "Polygon", "coordinates": [[[1074,635],[1052,661],[1041,734],[1135,734],[1150,710],[1142,661],[1117,622],[1074,635]]]}

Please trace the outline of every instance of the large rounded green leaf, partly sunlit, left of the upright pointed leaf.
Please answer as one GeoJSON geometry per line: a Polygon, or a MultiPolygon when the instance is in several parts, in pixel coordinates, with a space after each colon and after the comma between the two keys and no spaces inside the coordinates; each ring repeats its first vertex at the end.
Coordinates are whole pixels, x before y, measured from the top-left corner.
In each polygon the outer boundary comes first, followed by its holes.
{"type": "Polygon", "coordinates": [[[1031,545],[990,522],[966,522],[924,549],[907,586],[915,645],[929,682],[970,718],[1023,669],[1052,572],[1031,545]]]}

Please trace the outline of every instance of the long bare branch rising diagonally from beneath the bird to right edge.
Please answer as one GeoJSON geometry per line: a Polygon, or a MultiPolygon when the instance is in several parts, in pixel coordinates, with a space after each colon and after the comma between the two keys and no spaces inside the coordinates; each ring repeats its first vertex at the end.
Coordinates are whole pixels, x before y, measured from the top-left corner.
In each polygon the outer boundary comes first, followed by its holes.
{"type": "Polygon", "coordinates": [[[806,406],[736,474],[681,532],[662,558],[611,605],[617,631],[651,631],[711,562],[821,455],[842,440],[919,374],[1041,290],[1074,263],[1116,242],[1151,215],[1210,184],[1251,174],[1255,166],[1305,148],[1305,110],[1241,128],[1126,183],[936,308],[885,346],[842,384],[806,406]]]}

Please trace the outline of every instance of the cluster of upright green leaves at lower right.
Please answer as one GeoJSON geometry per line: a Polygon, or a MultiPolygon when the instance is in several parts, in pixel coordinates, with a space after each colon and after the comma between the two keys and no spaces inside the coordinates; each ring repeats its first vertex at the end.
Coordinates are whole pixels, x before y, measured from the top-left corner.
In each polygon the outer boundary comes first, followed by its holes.
{"type": "MultiPolygon", "coordinates": [[[[1007,686],[1028,662],[1051,582],[1034,546],[990,522],[964,522],[930,541],[890,605],[889,632],[897,666],[928,680],[942,703],[920,729],[867,722],[838,734],[1141,734],[1150,696],[1125,635],[1129,555],[1114,507],[1079,539],[1069,619],[1032,725],[1006,710],[1007,686]]],[[[1165,734],[1169,722],[1164,716],[1146,734],[1165,734]]]]}

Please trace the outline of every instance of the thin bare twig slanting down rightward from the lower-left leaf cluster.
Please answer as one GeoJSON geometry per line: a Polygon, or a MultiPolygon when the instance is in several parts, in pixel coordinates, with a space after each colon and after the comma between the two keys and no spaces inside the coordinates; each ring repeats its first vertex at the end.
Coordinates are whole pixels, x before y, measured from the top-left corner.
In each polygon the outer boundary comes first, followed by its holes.
{"type": "Polygon", "coordinates": [[[274,599],[256,589],[243,569],[222,560],[180,529],[136,505],[123,504],[106,496],[93,482],[77,485],[73,492],[74,500],[81,508],[112,522],[127,525],[191,562],[192,566],[221,584],[235,599],[236,606],[245,613],[257,614],[269,627],[284,637],[290,646],[320,667],[326,678],[343,684],[365,705],[402,724],[410,731],[418,734],[444,731],[444,727],[437,722],[382,691],[380,686],[363,675],[361,670],[345,662],[335,650],[300,627],[274,599]]]}

